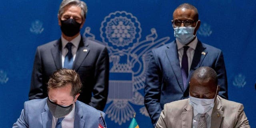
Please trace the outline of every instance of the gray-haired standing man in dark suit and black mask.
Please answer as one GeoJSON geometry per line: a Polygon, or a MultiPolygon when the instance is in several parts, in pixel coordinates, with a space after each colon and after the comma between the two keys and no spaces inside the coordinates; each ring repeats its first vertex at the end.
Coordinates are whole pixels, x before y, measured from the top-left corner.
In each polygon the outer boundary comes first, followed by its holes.
{"type": "Polygon", "coordinates": [[[109,58],[106,46],[82,38],[87,6],[80,0],[63,0],[58,11],[62,30],[59,40],[38,46],[34,60],[29,99],[47,97],[50,76],[60,68],[80,75],[82,92],[78,100],[104,110],[108,97],[109,58]]]}

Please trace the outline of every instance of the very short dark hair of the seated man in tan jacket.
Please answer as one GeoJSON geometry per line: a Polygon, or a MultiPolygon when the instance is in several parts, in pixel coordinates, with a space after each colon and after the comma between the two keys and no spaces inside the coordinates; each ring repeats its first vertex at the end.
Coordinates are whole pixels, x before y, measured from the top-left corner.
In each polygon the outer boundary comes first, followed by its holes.
{"type": "Polygon", "coordinates": [[[197,68],[192,76],[191,79],[195,78],[196,80],[213,80],[215,85],[218,85],[218,77],[217,73],[214,71],[214,69],[210,67],[199,67],[197,68]]]}

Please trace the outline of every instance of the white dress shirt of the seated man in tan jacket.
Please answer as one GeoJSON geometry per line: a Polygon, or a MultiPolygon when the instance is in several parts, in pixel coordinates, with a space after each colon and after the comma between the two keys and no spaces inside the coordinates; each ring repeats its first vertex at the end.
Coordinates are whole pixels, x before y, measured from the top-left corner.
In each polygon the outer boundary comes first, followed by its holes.
{"type": "MultiPolygon", "coordinates": [[[[212,120],[212,110],[213,108],[211,108],[208,112],[206,112],[205,114],[205,118],[206,118],[206,123],[207,123],[207,128],[211,128],[211,120],[212,120]]],[[[199,114],[198,112],[196,112],[196,110],[194,110],[194,117],[193,117],[193,122],[192,122],[192,126],[193,128],[197,128],[198,127],[198,122],[200,119],[200,116],[202,114],[199,114]],[[196,116],[195,116],[196,115],[196,116]]]]}

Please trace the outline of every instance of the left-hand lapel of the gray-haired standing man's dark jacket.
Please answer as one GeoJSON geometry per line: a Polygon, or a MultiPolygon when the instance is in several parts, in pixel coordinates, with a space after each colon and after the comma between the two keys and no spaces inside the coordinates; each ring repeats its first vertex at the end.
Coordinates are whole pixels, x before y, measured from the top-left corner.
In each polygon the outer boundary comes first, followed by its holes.
{"type": "Polygon", "coordinates": [[[54,59],[55,66],[56,66],[57,69],[62,68],[61,49],[62,49],[62,44],[61,44],[61,39],[59,39],[58,41],[55,42],[54,47],[51,48],[52,57],[54,59]]]}

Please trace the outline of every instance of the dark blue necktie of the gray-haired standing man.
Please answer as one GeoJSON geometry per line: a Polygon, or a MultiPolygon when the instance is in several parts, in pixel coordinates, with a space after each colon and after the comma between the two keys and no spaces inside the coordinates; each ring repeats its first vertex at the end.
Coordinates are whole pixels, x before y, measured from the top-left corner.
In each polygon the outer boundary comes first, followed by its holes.
{"type": "Polygon", "coordinates": [[[68,48],[68,53],[65,56],[63,68],[72,69],[72,66],[73,66],[73,55],[71,50],[72,43],[69,42],[68,44],[66,44],[66,48],[68,48]]]}

